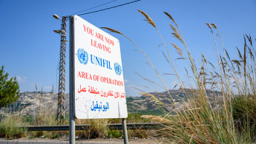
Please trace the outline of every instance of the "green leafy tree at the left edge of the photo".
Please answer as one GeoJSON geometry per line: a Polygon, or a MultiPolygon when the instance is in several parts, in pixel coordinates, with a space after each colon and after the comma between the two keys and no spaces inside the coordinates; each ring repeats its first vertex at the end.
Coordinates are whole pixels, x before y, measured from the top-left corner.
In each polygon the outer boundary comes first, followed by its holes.
{"type": "Polygon", "coordinates": [[[8,80],[8,73],[4,73],[4,66],[0,69],[0,109],[19,98],[19,83],[15,78],[8,80]]]}

